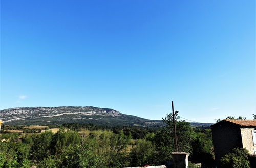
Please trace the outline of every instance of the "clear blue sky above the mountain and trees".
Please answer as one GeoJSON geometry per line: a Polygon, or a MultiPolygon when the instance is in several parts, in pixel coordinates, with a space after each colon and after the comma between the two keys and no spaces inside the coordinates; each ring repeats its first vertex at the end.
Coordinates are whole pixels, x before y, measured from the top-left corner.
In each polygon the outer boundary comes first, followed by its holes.
{"type": "Polygon", "coordinates": [[[1,1],[0,109],[252,118],[255,1],[1,1]]]}

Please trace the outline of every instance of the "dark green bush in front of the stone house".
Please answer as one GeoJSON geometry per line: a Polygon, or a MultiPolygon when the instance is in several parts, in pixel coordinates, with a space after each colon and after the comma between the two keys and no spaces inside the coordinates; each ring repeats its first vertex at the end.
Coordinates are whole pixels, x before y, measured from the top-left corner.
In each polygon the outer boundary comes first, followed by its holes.
{"type": "Polygon", "coordinates": [[[249,152],[244,148],[234,148],[230,153],[221,158],[221,167],[250,167],[249,152]]]}

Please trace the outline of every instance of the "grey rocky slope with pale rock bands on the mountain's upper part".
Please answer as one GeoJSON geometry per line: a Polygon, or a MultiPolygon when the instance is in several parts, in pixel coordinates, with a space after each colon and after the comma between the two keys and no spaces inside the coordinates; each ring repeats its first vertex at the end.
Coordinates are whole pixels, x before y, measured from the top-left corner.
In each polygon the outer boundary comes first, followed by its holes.
{"type": "Polygon", "coordinates": [[[23,120],[99,120],[105,117],[118,117],[119,111],[109,108],[86,107],[19,107],[0,111],[0,119],[5,123],[23,120]]]}

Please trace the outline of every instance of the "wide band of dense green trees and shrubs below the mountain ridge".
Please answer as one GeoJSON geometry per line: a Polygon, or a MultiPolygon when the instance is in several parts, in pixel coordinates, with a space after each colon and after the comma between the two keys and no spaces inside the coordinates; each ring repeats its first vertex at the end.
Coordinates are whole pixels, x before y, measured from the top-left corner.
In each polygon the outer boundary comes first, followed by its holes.
{"type": "MultiPolygon", "coordinates": [[[[162,165],[175,151],[172,115],[163,119],[165,127],[104,127],[93,124],[52,125],[60,128],[54,134],[2,134],[0,167],[125,167],[162,165]]],[[[177,120],[178,147],[188,152],[191,162],[213,165],[210,129],[193,129],[177,120]]],[[[4,126],[9,130],[15,126],[4,126]]],[[[28,129],[16,126],[15,129],[28,129]]],[[[36,130],[37,131],[37,130],[36,130]]]]}

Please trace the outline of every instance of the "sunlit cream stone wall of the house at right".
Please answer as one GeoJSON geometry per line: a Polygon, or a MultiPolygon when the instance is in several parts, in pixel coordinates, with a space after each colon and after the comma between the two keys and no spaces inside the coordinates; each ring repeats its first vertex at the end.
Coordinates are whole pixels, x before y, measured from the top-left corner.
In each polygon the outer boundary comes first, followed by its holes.
{"type": "Polygon", "coordinates": [[[256,146],[253,145],[253,130],[254,128],[241,128],[243,148],[246,148],[250,154],[254,154],[254,148],[256,148],[256,146]]]}

